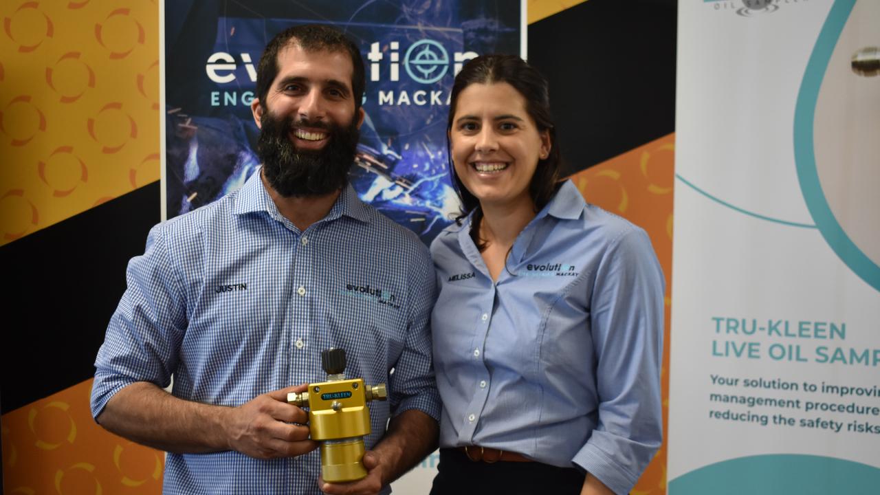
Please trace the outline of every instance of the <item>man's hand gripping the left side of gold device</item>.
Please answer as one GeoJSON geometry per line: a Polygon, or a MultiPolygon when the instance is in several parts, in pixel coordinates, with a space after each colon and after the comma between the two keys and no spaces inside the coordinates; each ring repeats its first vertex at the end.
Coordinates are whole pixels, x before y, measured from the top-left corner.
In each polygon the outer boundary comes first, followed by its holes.
{"type": "Polygon", "coordinates": [[[231,408],[226,415],[226,434],[232,450],[258,459],[295,457],[318,447],[309,440],[309,417],[304,410],[287,403],[289,392],[303,392],[307,384],[258,395],[248,403],[231,408]],[[293,423],[293,425],[290,425],[293,423]]]}

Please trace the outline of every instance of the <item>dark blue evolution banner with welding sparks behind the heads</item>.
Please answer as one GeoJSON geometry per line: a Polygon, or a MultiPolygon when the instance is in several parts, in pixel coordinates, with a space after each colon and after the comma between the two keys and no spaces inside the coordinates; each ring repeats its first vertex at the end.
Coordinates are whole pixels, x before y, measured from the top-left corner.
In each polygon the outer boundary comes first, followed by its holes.
{"type": "Polygon", "coordinates": [[[449,91],[461,66],[525,54],[525,2],[190,0],[165,2],[163,218],[240,187],[259,166],[250,104],[269,40],[324,23],[361,48],[367,87],[359,196],[429,242],[458,211],[447,173],[449,91]]]}

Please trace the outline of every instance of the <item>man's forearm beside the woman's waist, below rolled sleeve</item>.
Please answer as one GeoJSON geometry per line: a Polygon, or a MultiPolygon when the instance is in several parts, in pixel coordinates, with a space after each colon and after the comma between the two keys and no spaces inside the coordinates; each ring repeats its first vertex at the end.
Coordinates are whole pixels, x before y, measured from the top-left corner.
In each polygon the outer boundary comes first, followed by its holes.
{"type": "Polygon", "coordinates": [[[373,447],[384,464],[382,484],[391,484],[433,452],[439,431],[436,420],[421,410],[406,410],[394,417],[385,437],[373,447]]]}

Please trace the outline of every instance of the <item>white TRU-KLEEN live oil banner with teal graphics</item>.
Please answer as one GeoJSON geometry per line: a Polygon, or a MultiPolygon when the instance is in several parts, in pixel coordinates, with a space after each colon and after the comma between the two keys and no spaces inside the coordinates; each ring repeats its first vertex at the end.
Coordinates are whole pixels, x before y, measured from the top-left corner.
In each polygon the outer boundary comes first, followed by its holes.
{"type": "Polygon", "coordinates": [[[880,3],[678,3],[668,479],[880,486],[880,3]]]}

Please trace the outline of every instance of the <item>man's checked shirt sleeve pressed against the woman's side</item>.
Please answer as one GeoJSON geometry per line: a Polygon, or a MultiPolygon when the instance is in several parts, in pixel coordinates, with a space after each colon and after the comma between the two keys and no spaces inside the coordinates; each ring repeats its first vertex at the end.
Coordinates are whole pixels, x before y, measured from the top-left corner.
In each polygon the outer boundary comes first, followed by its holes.
{"type": "Polygon", "coordinates": [[[408,270],[411,281],[406,341],[389,377],[392,415],[405,410],[421,410],[440,420],[440,395],[431,362],[431,310],[436,301],[436,274],[428,248],[421,242],[408,270]]]}

